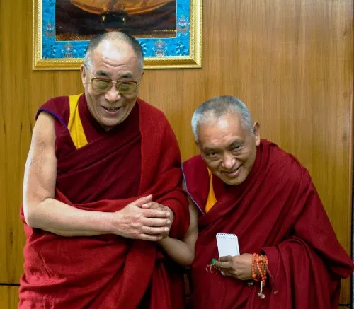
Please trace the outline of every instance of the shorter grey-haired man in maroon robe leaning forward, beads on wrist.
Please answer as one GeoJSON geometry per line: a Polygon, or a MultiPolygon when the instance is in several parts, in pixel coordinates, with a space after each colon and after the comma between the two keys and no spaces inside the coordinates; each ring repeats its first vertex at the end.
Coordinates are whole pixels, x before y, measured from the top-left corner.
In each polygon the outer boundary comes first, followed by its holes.
{"type": "Polygon", "coordinates": [[[200,213],[193,308],[338,308],[353,262],[307,170],[260,139],[237,98],[203,103],[192,127],[201,155],[185,161],[183,173],[200,213]],[[217,233],[236,234],[241,255],[219,257],[217,233]]]}

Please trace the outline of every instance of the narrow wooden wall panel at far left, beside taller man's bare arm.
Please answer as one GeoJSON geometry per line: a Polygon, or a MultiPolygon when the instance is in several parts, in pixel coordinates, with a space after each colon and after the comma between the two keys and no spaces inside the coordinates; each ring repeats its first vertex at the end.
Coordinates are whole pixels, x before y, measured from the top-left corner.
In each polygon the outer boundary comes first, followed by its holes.
{"type": "Polygon", "coordinates": [[[0,1],[0,283],[18,282],[23,263],[18,215],[31,134],[29,110],[34,108],[28,88],[30,9],[30,1],[0,1]]]}

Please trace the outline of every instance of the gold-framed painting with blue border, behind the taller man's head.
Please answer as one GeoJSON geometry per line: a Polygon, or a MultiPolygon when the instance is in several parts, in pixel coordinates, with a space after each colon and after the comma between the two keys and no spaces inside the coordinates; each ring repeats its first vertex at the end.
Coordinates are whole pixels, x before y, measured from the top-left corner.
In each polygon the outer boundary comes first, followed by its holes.
{"type": "Polygon", "coordinates": [[[33,69],[79,69],[112,30],[139,41],[145,69],[202,66],[202,0],[33,0],[33,69]]]}

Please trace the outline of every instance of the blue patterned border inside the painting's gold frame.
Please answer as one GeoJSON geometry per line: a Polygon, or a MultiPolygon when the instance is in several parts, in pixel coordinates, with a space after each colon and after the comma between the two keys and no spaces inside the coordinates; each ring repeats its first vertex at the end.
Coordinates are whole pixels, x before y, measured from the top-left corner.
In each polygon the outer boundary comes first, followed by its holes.
{"type": "MultiPolygon", "coordinates": [[[[190,0],[176,0],[176,37],[137,39],[144,57],[190,55],[190,0]]],[[[42,0],[42,59],[84,58],[89,41],[55,40],[55,0],[42,0]]]]}

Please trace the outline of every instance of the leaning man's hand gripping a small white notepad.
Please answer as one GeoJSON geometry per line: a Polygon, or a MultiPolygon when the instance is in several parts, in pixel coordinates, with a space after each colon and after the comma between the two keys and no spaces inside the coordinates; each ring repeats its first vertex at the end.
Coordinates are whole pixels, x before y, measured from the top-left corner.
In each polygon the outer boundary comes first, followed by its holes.
{"type": "Polygon", "coordinates": [[[252,278],[252,255],[240,255],[239,241],[234,234],[217,233],[217,250],[219,261],[214,263],[224,276],[233,276],[241,280],[252,278]]]}

